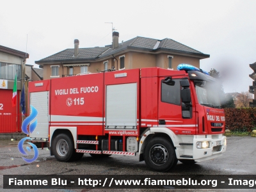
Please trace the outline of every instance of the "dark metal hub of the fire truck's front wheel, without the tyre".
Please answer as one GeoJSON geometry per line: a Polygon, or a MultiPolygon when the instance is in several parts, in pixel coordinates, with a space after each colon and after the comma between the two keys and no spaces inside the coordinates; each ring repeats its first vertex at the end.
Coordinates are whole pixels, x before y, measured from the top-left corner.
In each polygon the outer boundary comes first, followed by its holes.
{"type": "Polygon", "coordinates": [[[156,165],[166,163],[168,159],[168,152],[163,145],[154,145],[150,148],[150,159],[156,165]]]}

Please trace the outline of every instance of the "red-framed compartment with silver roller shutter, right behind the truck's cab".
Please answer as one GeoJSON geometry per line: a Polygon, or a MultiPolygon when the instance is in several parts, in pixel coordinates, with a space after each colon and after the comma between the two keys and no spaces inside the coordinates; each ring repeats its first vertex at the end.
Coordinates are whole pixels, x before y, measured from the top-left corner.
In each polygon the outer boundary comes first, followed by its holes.
{"type": "Polygon", "coordinates": [[[140,135],[140,69],[104,73],[104,134],[140,135]]]}

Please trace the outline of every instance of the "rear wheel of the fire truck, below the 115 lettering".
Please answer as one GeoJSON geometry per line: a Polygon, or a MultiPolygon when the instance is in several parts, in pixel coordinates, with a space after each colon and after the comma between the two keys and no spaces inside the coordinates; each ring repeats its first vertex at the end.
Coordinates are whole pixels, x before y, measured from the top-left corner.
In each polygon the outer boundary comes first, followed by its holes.
{"type": "Polygon", "coordinates": [[[72,139],[64,133],[58,134],[52,141],[52,152],[58,161],[72,161],[75,148],[72,139]]]}

